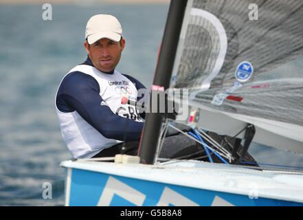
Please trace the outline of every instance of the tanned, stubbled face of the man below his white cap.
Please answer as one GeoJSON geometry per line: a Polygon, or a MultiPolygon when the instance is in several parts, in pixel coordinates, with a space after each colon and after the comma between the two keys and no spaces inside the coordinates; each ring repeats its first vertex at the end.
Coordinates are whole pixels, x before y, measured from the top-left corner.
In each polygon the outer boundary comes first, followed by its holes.
{"type": "Polygon", "coordinates": [[[85,42],[85,49],[93,65],[102,72],[111,72],[120,61],[121,53],[124,50],[125,40],[120,42],[110,39],[100,39],[89,45],[85,42]]]}

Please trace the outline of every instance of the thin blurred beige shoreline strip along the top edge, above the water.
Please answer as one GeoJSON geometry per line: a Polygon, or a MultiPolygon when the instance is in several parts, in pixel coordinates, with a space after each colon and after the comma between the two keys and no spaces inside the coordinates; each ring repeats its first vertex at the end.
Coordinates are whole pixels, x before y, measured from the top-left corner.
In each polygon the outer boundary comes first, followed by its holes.
{"type": "Polygon", "coordinates": [[[117,3],[117,4],[150,4],[170,3],[170,0],[0,0],[0,4],[34,4],[34,3],[117,3]]]}

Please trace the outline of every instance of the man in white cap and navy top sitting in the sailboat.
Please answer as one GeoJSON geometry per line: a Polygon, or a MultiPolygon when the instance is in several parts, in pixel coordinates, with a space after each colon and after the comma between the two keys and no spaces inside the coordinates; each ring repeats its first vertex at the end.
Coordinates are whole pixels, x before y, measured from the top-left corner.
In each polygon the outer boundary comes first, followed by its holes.
{"type": "MultiPolygon", "coordinates": [[[[137,91],[146,87],[115,69],[125,43],[115,17],[91,17],[85,30],[87,60],[71,69],[58,87],[56,112],[63,140],[74,159],[137,155],[144,120],[135,107],[122,104],[122,100],[138,101],[137,91]]],[[[160,157],[205,155],[201,144],[186,135],[170,132],[167,136],[160,157]]]]}

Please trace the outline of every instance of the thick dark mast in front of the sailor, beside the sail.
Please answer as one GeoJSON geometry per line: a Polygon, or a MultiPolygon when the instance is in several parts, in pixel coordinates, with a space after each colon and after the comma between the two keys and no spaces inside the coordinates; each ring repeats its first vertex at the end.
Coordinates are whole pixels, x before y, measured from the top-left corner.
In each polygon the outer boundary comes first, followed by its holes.
{"type": "MultiPolygon", "coordinates": [[[[164,37],[155,69],[155,76],[153,78],[153,85],[161,87],[164,90],[168,89],[170,85],[170,77],[175,61],[186,4],[187,0],[170,1],[164,37]]],[[[152,87],[150,100],[152,100],[153,94],[157,94],[157,92],[158,91],[153,91],[152,87]]],[[[139,144],[139,157],[142,164],[154,164],[155,162],[155,152],[161,132],[162,117],[160,113],[146,113],[146,122],[139,144]]]]}

